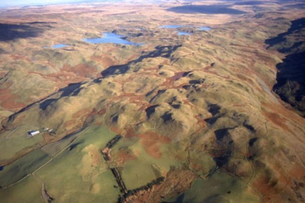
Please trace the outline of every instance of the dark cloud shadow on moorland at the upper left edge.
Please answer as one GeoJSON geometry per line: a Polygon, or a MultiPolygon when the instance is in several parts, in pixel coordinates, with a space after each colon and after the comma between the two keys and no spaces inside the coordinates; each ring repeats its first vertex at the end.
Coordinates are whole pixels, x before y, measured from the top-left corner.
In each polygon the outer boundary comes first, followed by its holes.
{"type": "Polygon", "coordinates": [[[30,25],[0,23],[0,41],[37,37],[42,32],[43,29],[30,25]]]}

